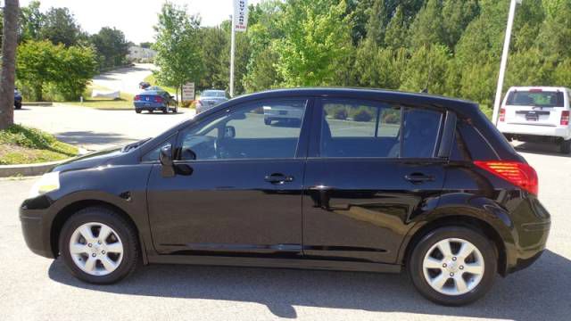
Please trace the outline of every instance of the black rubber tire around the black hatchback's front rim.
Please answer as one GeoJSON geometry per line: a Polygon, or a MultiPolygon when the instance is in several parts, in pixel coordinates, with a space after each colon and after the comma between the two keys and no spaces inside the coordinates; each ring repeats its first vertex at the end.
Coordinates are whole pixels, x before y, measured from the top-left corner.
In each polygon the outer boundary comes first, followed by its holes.
{"type": "Polygon", "coordinates": [[[122,218],[120,214],[102,207],[90,207],[73,214],[62,227],[59,246],[63,262],[70,270],[70,273],[79,278],[79,280],[91,284],[113,284],[119,282],[135,271],[141,257],[141,248],[135,227],[125,218],[122,218]],[[84,272],[76,265],[70,254],[71,236],[79,226],[89,222],[102,223],[111,227],[119,235],[121,243],[123,243],[123,257],[119,266],[105,276],[93,276],[84,272]]]}

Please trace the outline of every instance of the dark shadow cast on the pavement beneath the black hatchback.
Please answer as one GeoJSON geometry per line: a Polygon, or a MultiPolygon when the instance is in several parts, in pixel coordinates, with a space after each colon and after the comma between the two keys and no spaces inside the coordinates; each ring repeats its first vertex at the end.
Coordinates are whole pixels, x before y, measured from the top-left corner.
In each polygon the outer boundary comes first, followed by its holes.
{"type": "Polygon", "coordinates": [[[256,302],[285,318],[297,317],[295,306],[514,320],[568,320],[571,314],[571,261],[552,251],[530,268],[496,278],[484,299],[462,308],[425,300],[405,274],[151,265],[120,284],[101,286],[71,276],[62,259],[54,260],[48,274],[92,291],[256,302]]]}

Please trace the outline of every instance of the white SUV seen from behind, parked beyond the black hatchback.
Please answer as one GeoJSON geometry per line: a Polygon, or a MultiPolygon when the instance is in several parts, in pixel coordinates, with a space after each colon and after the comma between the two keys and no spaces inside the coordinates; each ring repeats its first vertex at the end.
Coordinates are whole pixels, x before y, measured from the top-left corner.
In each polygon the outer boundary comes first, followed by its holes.
{"type": "Polygon", "coordinates": [[[566,87],[511,87],[501,104],[498,129],[509,141],[557,143],[567,154],[570,102],[566,87]]]}

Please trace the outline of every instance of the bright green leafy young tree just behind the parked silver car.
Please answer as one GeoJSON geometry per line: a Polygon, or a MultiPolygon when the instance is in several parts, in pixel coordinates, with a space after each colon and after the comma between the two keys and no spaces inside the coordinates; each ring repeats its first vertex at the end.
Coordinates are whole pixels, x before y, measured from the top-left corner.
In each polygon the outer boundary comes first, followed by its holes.
{"type": "Polygon", "coordinates": [[[188,82],[198,83],[204,70],[199,41],[200,18],[189,16],[186,6],[170,2],[162,5],[153,49],[159,67],[156,78],[166,86],[182,88],[188,82]]]}

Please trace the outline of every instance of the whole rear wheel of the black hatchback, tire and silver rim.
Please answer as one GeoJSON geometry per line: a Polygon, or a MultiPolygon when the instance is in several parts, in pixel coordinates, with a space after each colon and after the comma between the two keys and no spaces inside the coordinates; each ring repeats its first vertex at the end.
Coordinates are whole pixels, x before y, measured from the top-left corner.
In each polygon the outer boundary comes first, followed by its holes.
{"type": "Polygon", "coordinates": [[[428,300],[460,306],[490,290],[497,271],[495,247],[475,230],[447,226],[426,234],[410,253],[409,274],[428,300]]]}

